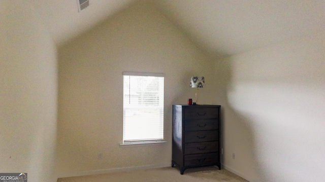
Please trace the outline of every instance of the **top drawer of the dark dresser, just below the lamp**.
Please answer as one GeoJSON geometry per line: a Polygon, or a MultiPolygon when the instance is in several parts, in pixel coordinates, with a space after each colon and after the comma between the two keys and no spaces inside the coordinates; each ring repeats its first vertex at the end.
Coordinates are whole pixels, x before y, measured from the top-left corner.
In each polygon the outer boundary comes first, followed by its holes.
{"type": "Polygon", "coordinates": [[[197,119],[217,119],[219,113],[217,108],[208,107],[208,108],[186,108],[184,110],[184,119],[185,120],[197,120],[197,119]]]}

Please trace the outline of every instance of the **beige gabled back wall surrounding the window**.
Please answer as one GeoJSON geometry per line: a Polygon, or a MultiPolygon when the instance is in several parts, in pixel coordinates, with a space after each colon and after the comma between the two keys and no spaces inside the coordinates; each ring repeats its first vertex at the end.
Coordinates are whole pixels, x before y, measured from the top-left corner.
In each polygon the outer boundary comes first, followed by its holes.
{"type": "Polygon", "coordinates": [[[159,10],[136,4],[59,48],[59,176],[171,165],[172,104],[194,98],[191,76],[205,76],[200,103],[212,104],[213,64],[159,10]],[[120,148],[122,71],[165,74],[167,143],[120,148]],[[102,154],[102,159],[98,155],[102,154]]]}

